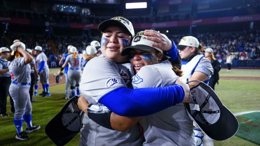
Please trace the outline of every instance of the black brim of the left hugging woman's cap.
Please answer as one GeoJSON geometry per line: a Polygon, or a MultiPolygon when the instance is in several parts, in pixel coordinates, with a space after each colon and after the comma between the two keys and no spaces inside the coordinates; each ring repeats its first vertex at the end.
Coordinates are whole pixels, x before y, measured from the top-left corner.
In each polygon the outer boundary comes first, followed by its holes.
{"type": "MultiPolygon", "coordinates": [[[[118,20],[113,20],[113,19],[108,19],[105,20],[103,22],[101,22],[99,24],[99,26],[97,27],[97,29],[101,32],[104,32],[106,30],[107,27],[109,26],[119,26],[119,27],[123,27],[125,30],[128,31],[128,33],[132,36],[131,32],[127,29],[127,27],[125,25],[123,25],[120,21],[118,20]]],[[[133,36],[132,36],[133,37],[133,36]]]]}

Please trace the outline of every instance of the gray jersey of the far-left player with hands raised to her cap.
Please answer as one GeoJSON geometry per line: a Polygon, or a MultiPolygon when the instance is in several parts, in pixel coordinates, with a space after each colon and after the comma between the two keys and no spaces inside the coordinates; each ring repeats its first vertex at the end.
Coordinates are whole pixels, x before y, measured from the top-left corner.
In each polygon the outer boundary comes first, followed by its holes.
{"type": "Polygon", "coordinates": [[[31,82],[31,66],[24,64],[24,57],[17,57],[8,62],[12,82],[27,83],[31,82]]]}

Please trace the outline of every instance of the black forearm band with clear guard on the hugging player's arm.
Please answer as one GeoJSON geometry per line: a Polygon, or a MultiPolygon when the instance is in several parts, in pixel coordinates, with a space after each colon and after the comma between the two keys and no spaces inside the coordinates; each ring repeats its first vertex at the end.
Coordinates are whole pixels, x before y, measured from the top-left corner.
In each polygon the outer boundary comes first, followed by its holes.
{"type": "Polygon", "coordinates": [[[98,105],[88,105],[88,117],[102,127],[114,130],[110,125],[111,111],[107,107],[100,108],[98,105]]]}

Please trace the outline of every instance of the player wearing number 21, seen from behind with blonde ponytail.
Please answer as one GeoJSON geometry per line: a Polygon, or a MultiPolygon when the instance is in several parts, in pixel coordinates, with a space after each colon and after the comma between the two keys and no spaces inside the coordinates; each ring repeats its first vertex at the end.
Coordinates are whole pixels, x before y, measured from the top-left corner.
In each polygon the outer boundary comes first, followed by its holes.
{"type": "Polygon", "coordinates": [[[79,91],[79,84],[80,84],[80,78],[81,78],[81,57],[79,54],[77,54],[77,48],[72,46],[69,49],[69,55],[65,60],[65,63],[62,65],[60,71],[57,72],[57,75],[60,75],[61,71],[66,67],[66,65],[69,63],[68,68],[68,80],[70,84],[70,93],[71,96],[75,96],[75,90],[77,95],[80,94],[79,91]]]}

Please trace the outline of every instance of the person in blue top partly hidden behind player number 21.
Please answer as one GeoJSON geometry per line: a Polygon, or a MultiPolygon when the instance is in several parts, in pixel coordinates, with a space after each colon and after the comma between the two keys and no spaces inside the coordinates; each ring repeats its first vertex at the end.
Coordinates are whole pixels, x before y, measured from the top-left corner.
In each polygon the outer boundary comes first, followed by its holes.
{"type": "MultiPolygon", "coordinates": [[[[59,61],[59,65],[63,65],[67,56],[69,55],[69,49],[72,47],[72,45],[69,45],[68,48],[68,53],[62,56],[61,60],[59,61]]],[[[68,68],[69,65],[66,65],[64,67],[64,73],[65,73],[65,99],[69,99],[69,79],[68,79],[68,68]]]]}

